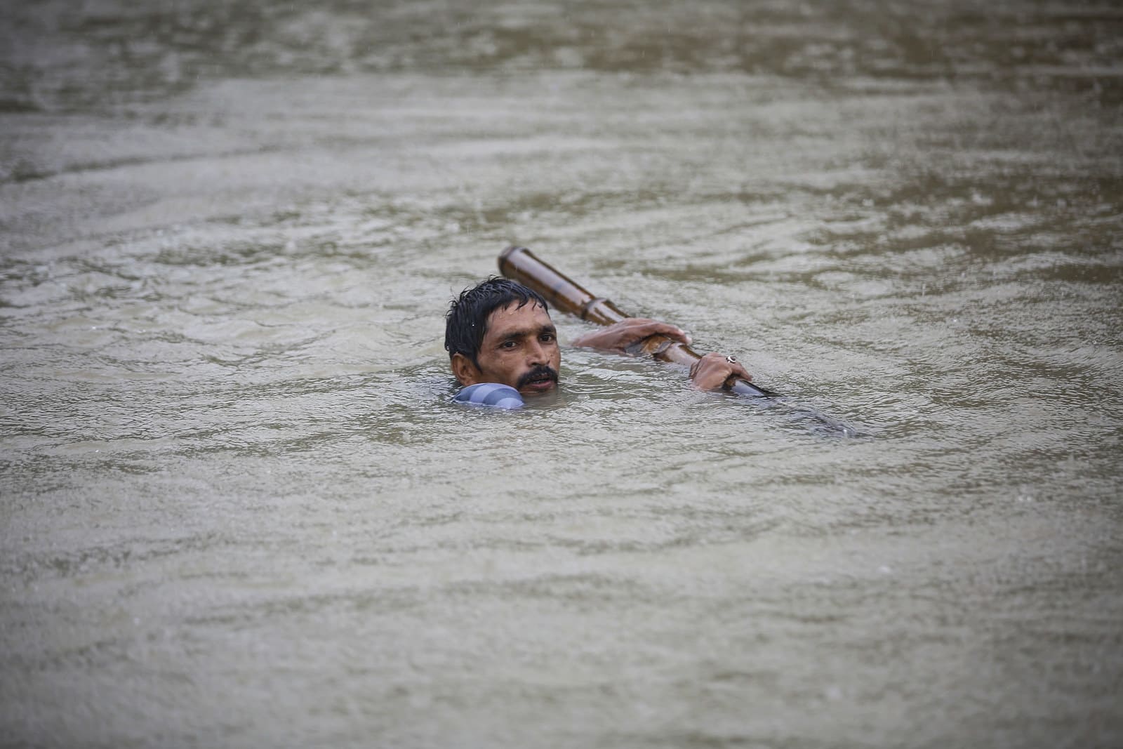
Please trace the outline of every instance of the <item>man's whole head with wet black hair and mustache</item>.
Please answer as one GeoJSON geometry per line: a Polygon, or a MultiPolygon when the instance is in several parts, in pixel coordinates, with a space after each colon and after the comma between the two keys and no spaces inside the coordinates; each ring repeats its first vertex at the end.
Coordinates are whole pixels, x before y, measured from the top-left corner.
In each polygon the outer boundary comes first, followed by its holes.
{"type": "Polygon", "coordinates": [[[562,349],[546,300],[521,283],[489,278],[454,300],[445,348],[462,385],[497,382],[521,393],[557,386],[562,349]]]}

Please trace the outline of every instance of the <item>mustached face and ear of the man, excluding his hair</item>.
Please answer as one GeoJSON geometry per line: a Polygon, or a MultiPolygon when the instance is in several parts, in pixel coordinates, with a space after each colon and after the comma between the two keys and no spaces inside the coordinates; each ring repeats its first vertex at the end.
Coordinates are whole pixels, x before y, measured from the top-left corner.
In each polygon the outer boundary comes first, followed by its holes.
{"type": "Polygon", "coordinates": [[[477,369],[467,357],[453,357],[453,372],[464,385],[497,382],[524,395],[557,387],[562,349],[550,316],[541,304],[513,302],[487,317],[477,369]]]}

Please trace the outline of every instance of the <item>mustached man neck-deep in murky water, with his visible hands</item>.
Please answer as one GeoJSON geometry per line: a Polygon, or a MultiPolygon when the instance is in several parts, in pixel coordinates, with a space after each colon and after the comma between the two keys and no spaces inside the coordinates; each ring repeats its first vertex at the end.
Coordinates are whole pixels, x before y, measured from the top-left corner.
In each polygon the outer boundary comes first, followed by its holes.
{"type": "MultiPolygon", "coordinates": [[[[656,335],[690,342],[674,326],[628,318],[573,345],[626,354],[628,346],[656,335]]],[[[453,374],[465,386],[457,401],[518,408],[523,395],[557,387],[562,349],[546,300],[515,281],[493,277],[462,292],[446,316],[445,348],[453,374]]],[[[691,367],[699,390],[721,390],[731,377],[751,378],[732,357],[720,354],[706,354],[691,367]]]]}

